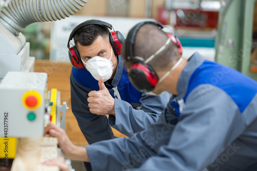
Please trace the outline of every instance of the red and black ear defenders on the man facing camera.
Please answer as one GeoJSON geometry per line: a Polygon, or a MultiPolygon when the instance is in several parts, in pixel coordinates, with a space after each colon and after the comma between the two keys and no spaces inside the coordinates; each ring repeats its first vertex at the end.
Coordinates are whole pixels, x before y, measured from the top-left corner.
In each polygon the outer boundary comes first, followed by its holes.
{"type": "MultiPolygon", "coordinates": [[[[69,50],[69,60],[70,60],[70,63],[77,69],[84,68],[84,65],[83,65],[83,62],[81,61],[81,57],[77,47],[76,46],[70,47],[70,41],[73,39],[74,35],[79,29],[91,24],[106,26],[110,30],[114,30],[113,26],[109,23],[102,22],[100,20],[88,20],[79,24],[71,31],[69,35],[68,45],[67,45],[69,50]]],[[[111,46],[116,56],[120,55],[122,43],[124,40],[125,40],[124,36],[119,31],[111,31],[109,33],[109,41],[111,43],[111,46]]]]}

